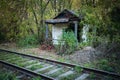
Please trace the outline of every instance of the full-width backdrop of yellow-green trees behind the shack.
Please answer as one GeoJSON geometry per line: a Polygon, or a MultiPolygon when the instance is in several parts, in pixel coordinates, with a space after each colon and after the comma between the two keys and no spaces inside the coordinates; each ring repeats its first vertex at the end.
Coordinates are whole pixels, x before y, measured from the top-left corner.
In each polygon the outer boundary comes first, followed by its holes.
{"type": "Polygon", "coordinates": [[[90,25],[91,44],[106,35],[111,42],[119,42],[119,3],[119,0],[1,0],[0,41],[15,41],[29,34],[37,34],[38,40],[44,41],[44,20],[63,9],[71,9],[83,15],[81,24],[90,25]]]}

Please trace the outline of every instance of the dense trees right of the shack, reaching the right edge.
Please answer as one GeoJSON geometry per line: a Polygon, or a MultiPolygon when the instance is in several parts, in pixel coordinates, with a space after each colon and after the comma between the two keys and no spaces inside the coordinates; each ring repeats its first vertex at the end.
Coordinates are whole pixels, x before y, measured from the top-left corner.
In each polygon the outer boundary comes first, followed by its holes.
{"type": "Polygon", "coordinates": [[[90,25],[88,43],[92,46],[98,46],[101,44],[99,39],[104,40],[104,36],[107,36],[105,38],[107,42],[119,42],[120,23],[118,14],[120,10],[118,4],[120,1],[81,1],[83,4],[79,13],[84,16],[81,24],[90,25]]]}

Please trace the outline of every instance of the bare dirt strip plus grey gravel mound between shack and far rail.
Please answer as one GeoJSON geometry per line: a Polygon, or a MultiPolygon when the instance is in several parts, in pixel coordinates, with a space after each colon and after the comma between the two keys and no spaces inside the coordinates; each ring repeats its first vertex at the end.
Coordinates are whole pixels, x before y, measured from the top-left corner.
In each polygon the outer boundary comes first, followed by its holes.
{"type": "Polygon", "coordinates": [[[57,55],[55,50],[42,50],[40,46],[36,48],[20,48],[17,47],[15,43],[4,43],[4,44],[0,44],[0,48],[31,54],[39,57],[49,58],[53,60],[58,60],[62,62],[66,61],[70,63],[81,64],[81,65],[93,61],[95,59],[94,56],[95,50],[91,47],[87,47],[83,50],[75,51],[72,55],[65,55],[65,56],[57,55]]]}

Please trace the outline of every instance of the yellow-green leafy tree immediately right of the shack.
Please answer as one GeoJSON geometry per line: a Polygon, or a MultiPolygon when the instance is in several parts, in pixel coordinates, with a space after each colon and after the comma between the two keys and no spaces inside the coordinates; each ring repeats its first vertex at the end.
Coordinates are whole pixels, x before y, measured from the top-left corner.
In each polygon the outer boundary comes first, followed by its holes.
{"type": "Polygon", "coordinates": [[[98,37],[101,37],[100,33],[97,32],[102,26],[102,16],[100,15],[99,8],[83,6],[81,14],[84,15],[84,19],[80,22],[80,25],[88,25],[89,29],[87,42],[82,44],[94,46],[96,43],[99,43],[97,41],[98,37]]]}

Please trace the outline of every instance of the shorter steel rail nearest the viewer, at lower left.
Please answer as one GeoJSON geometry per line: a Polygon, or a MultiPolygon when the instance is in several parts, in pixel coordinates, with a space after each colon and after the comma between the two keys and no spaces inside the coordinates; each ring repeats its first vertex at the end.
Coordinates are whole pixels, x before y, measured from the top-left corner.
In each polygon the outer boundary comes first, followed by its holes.
{"type": "Polygon", "coordinates": [[[41,77],[45,80],[55,80],[51,77],[48,77],[46,75],[43,75],[43,74],[39,74],[39,73],[36,73],[36,72],[33,72],[31,70],[28,70],[28,69],[25,69],[25,68],[22,68],[22,67],[19,67],[19,66],[16,66],[14,64],[11,64],[11,63],[8,63],[8,62],[5,62],[5,61],[2,61],[0,60],[0,64],[3,64],[3,65],[6,65],[6,66],[9,66],[9,67],[12,67],[12,68],[15,68],[16,70],[26,74],[26,75],[29,75],[31,77],[41,77]]]}

